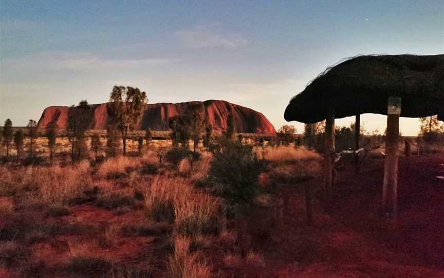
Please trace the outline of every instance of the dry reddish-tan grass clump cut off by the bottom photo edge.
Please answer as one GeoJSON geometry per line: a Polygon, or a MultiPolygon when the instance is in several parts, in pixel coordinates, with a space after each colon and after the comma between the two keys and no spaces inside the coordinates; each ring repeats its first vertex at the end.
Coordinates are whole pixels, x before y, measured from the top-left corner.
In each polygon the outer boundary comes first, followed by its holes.
{"type": "Polygon", "coordinates": [[[201,259],[198,253],[190,253],[190,243],[190,239],[186,237],[176,237],[174,240],[174,254],[168,262],[169,277],[211,277],[211,267],[201,259]]]}

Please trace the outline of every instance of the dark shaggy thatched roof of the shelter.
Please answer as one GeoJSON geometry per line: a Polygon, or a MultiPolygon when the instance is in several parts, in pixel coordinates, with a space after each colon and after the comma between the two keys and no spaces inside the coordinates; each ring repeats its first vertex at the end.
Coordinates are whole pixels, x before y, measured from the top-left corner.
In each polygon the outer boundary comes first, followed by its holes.
{"type": "Polygon", "coordinates": [[[285,120],[317,123],[328,107],[335,117],[387,114],[387,98],[402,98],[401,116],[438,115],[444,120],[444,54],[365,55],[348,59],[313,80],[292,98],[285,120]]]}

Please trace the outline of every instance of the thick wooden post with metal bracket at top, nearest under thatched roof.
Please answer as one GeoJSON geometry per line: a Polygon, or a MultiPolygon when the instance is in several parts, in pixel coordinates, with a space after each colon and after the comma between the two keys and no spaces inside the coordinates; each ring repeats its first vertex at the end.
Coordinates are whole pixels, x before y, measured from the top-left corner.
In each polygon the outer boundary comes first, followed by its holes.
{"type": "MultiPolygon", "coordinates": [[[[393,109],[394,106],[392,106],[393,109]]],[[[391,98],[389,98],[389,113],[387,113],[387,134],[385,136],[384,186],[382,192],[384,216],[396,220],[396,194],[398,186],[398,136],[399,114],[391,113],[391,98]]]]}

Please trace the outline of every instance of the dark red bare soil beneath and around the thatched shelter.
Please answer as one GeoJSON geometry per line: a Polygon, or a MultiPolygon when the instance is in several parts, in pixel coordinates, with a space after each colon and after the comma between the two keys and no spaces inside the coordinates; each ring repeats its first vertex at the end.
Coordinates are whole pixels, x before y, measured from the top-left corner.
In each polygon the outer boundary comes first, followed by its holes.
{"type": "Polygon", "coordinates": [[[283,189],[283,224],[256,245],[268,249],[267,276],[444,277],[444,180],[436,177],[444,175],[444,155],[400,157],[396,230],[378,216],[383,160],[371,164],[361,174],[338,172],[332,212],[315,203],[311,227],[299,190],[283,189]]]}

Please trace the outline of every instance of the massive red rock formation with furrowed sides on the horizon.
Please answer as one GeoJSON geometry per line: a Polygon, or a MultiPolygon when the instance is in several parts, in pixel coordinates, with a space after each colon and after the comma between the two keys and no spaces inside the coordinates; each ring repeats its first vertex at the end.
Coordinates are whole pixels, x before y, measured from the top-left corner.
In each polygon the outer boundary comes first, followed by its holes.
{"type": "MultiPolygon", "coordinates": [[[[233,114],[236,131],[240,133],[262,133],[275,134],[276,130],[267,118],[253,109],[232,104],[226,101],[184,102],[184,103],[156,103],[147,104],[138,123],[136,130],[167,131],[169,130],[168,119],[175,115],[188,114],[190,106],[201,103],[205,107],[206,122],[213,125],[214,131],[227,130],[228,115],[233,114]]],[[[90,105],[91,115],[89,118],[90,129],[106,129],[109,118],[107,104],[90,105]]],[[[54,121],[58,127],[67,127],[69,107],[50,106],[47,107],[40,117],[38,127],[45,128],[47,124],[54,121]]]]}

